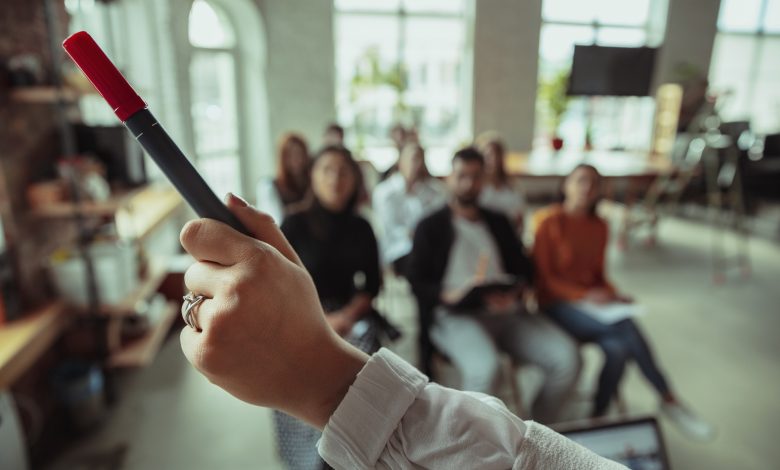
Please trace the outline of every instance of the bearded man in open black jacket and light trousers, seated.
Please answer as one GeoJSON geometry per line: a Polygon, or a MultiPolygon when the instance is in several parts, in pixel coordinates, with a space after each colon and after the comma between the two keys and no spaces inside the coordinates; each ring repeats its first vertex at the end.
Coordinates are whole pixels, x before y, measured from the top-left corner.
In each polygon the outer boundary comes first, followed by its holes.
{"type": "Polygon", "coordinates": [[[477,150],[458,151],[448,205],[421,220],[414,234],[407,276],[420,306],[423,367],[429,371],[435,345],[461,373],[464,390],[490,393],[504,351],[542,369],[533,419],[554,422],[577,381],[577,346],[552,322],[523,310],[519,299],[531,262],[509,220],[477,203],[484,167],[477,150]],[[475,285],[507,275],[516,278],[514,289],[490,292],[473,309],[458,308],[475,285]]]}

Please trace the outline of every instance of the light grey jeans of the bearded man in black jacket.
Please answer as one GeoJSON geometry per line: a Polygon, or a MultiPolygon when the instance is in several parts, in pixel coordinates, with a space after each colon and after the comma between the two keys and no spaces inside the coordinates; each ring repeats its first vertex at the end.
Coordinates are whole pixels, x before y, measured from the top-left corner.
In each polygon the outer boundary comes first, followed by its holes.
{"type": "Polygon", "coordinates": [[[431,341],[458,369],[466,391],[492,393],[499,374],[499,350],[514,360],[538,366],[544,384],[533,403],[533,419],[554,423],[577,383],[577,345],[540,315],[435,312],[431,341]]]}

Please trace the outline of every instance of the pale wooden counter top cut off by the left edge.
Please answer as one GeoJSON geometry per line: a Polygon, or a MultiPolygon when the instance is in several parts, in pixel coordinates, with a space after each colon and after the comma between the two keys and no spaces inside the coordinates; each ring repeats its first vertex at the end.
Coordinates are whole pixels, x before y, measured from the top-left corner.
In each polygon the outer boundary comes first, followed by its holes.
{"type": "Polygon", "coordinates": [[[72,319],[65,304],[55,302],[0,326],[0,390],[32,366],[72,319]]]}

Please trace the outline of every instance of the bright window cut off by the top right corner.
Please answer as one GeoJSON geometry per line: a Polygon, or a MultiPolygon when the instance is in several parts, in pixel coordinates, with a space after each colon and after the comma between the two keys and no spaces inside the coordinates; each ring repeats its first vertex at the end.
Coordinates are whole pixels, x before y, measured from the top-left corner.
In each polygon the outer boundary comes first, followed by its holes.
{"type": "Polygon", "coordinates": [[[780,0],[721,0],[709,78],[724,119],[780,131],[780,0]]]}

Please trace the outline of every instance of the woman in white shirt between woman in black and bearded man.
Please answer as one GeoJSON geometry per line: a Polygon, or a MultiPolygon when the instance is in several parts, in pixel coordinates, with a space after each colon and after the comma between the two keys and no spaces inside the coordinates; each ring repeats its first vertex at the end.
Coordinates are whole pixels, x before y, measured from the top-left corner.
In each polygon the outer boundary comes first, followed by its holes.
{"type": "Polygon", "coordinates": [[[407,144],[398,161],[398,172],[374,188],[373,207],[381,228],[382,261],[403,275],[417,222],[446,202],[446,188],[428,173],[425,150],[407,144]]]}

